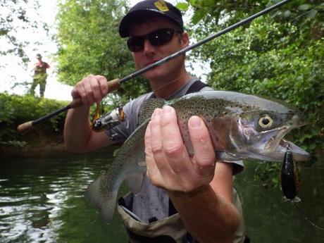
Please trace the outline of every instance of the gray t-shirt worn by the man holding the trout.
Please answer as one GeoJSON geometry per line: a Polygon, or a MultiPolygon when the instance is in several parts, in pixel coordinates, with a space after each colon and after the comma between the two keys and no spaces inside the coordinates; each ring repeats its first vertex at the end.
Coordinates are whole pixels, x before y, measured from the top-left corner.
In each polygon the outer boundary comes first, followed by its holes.
{"type": "MultiPolygon", "coordinates": [[[[168,96],[166,100],[175,99],[187,93],[189,87],[197,81],[196,77],[192,77],[189,82],[180,89],[168,96]]],[[[213,90],[211,87],[204,87],[201,91],[213,90]]],[[[154,97],[153,92],[143,94],[137,99],[128,102],[124,107],[126,120],[120,125],[106,130],[107,135],[116,142],[125,142],[138,125],[139,110],[144,101],[154,97]]],[[[231,161],[233,163],[233,174],[239,173],[244,166],[242,161],[231,161]]],[[[128,200],[127,200],[128,201],[128,200]]],[[[139,194],[132,195],[132,212],[145,222],[149,222],[149,218],[156,217],[158,219],[168,217],[169,199],[166,190],[151,185],[149,179],[144,177],[142,189],[139,194]]]]}

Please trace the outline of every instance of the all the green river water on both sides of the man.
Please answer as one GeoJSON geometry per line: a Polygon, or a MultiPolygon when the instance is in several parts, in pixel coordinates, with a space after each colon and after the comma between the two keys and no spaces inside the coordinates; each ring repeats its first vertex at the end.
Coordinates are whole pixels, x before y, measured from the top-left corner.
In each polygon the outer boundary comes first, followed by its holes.
{"type": "MultiPolygon", "coordinates": [[[[89,182],[106,170],[113,151],[82,156],[1,158],[0,242],[127,242],[120,218],[111,225],[85,201],[89,182]]],[[[298,206],[324,227],[324,161],[301,168],[298,206]]],[[[280,188],[254,180],[257,163],[246,163],[235,178],[251,242],[324,242],[324,231],[311,225],[280,188]]],[[[126,189],[122,189],[125,193],[126,189]]]]}

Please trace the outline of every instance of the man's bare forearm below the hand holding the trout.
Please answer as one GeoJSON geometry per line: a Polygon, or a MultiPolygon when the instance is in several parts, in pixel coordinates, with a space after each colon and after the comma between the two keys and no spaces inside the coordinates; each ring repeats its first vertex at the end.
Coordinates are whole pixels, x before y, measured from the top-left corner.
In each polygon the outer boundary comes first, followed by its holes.
{"type": "Polygon", "coordinates": [[[210,185],[188,193],[168,192],[187,230],[201,243],[232,243],[239,227],[239,212],[232,204],[232,175],[222,175],[225,170],[232,173],[231,167],[218,162],[210,185]]]}

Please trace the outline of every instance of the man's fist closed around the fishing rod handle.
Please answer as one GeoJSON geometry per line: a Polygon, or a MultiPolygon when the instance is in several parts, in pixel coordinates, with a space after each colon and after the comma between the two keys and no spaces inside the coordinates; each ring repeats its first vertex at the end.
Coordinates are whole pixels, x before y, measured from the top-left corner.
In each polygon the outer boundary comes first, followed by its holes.
{"type": "Polygon", "coordinates": [[[73,99],[81,97],[82,104],[91,106],[100,102],[108,94],[108,82],[101,75],[89,75],[78,82],[72,89],[73,99]]]}

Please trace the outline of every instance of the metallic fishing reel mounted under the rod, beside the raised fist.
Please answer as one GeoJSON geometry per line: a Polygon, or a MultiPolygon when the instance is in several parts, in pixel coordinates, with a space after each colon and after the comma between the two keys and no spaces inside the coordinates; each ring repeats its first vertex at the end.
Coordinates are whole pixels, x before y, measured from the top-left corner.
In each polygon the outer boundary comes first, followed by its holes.
{"type": "Polygon", "coordinates": [[[113,111],[99,116],[99,104],[96,105],[96,113],[94,115],[94,121],[92,122],[92,130],[95,132],[101,132],[106,128],[110,129],[119,125],[125,120],[125,113],[123,108],[117,107],[113,111]]]}

